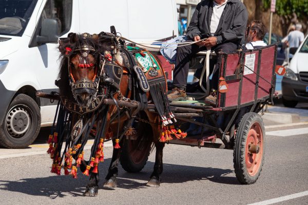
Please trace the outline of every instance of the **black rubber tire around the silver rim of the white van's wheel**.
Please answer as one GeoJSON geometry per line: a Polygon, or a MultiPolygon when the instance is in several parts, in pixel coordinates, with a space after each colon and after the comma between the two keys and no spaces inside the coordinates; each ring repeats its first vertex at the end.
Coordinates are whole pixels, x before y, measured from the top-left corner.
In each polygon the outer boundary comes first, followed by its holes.
{"type": "Polygon", "coordinates": [[[15,148],[21,149],[26,148],[32,144],[32,142],[36,139],[38,133],[41,129],[41,112],[40,108],[36,104],[36,102],[25,94],[18,94],[6,111],[5,118],[3,120],[3,124],[0,127],[0,145],[5,148],[15,148]],[[30,110],[28,112],[32,112],[30,114],[31,125],[26,131],[25,135],[21,138],[13,138],[6,130],[6,116],[8,112],[16,105],[26,106],[30,110]]]}

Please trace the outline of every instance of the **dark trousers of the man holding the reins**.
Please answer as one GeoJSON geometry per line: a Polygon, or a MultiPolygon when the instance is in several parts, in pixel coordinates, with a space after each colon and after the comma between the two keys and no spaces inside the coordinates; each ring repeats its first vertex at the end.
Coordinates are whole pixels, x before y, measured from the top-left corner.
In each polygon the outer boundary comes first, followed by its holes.
{"type": "MultiPolygon", "coordinates": [[[[192,42],[192,40],[187,40],[186,42],[192,42]]],[[[235,51],[239,48],[239,45],[233,42],[227,42],[220,44],[218,46],[215,46],[211,48],[211,50],[214,50],[216,53],[218,51],[222,52],[232,52],[235,51]]],[[[183,46],[183,47],[178,47],[177,48],[177,59],[176,59],[176,67],[174,70],[173,74],[173,81],[174,81],[174,86],[181,89],[185,90],[186,89],[186,84],[187,84],[187,77],[188,77],[188,71],[189,71],[189,60],[193,55],[200,51],[206,50],[206,47],[199,47],[196,44],[188,45],[188,46],[183,46]]],[[[213,89],[217,89],[218,87],[218,74],[219,74],[219,69],[220,68],[220,60],[219,57],[216,60],[210,60],[210,68],[209,72],[212,73],[215,67],[215,71],[213,72],[212,79],[210,81],[210,87],[213,89]],[[216,64],[216,66],[215,66],[216,64]]],[[[204,83],[205,83],[204,79],[204,83]]]]}

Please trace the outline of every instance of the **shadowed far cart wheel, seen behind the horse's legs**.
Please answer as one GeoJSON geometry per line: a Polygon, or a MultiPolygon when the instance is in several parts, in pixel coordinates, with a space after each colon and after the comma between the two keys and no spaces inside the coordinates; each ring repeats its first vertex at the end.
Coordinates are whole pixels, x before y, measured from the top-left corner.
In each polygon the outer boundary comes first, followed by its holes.
{"type": "Polygon", "coordinates": [[[121,166],[126,172],[140,172],[144,168],[153,141],[151,126],[138,122],[133,127],[136,128],[137,139],[126,139],[120,155],[121,166]]]}

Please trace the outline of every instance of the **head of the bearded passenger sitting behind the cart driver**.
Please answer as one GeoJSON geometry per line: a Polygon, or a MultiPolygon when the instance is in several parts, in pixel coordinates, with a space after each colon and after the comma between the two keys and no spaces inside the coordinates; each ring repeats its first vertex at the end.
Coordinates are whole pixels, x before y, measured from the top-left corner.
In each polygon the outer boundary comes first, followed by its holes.
{"type": "Polygon", "coordinates": [[[247,30],[248,42],[255,42],[264,38],[267,29],[260,20],[253,20],[250,27],[250,30],[247,30]]]}

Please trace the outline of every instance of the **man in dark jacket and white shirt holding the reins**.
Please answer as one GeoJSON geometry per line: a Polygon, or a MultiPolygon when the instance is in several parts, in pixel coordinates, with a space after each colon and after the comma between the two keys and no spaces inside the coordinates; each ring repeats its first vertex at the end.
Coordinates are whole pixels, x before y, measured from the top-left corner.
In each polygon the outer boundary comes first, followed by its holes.
{"type": "MultiPolygon", "coordinates": [[[[230,52],[237,50],[244,41],[248,14],[246,7],[239,0],[204,0],[197,5],[187,29],[186,42],[198,42],[177,49],[177,60],[174,70],[175,88],[168,94],[170,101],[186,99],[186,83],[189,60],[199,51],[211,50],[230,52]]],[[[218,68],[220,62],[217,62],[218,68]]],[[[214,68],[210,68],[210,73],[214,68]]],[[[212,77],[213,85],[218,84],[218,69],[212,77]],[[215,82],[214,82],[215,81],[215,82]]],[[[208,88],[207,88],[208,89],[208,88]]],[[[216,104],[215,99],[211,100],[216,104]],[[215,102],[214,102],[215,101],[215,102]]]]}

